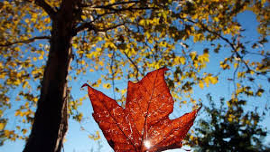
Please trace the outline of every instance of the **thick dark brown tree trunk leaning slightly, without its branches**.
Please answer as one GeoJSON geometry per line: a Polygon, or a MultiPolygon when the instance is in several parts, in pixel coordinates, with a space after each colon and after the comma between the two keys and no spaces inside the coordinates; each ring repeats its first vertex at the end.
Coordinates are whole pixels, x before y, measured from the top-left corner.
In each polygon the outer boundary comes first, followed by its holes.
{"type": "MultiPolygon", "coordinates": [[[[50,51],[35,120],[24,152],[60,152],[67,132],[67,74],[72,59],[76,0],[66,0],[52,20],[50,51]]],[[[77,1],[78,2],[78,1],[77,1]]]]}

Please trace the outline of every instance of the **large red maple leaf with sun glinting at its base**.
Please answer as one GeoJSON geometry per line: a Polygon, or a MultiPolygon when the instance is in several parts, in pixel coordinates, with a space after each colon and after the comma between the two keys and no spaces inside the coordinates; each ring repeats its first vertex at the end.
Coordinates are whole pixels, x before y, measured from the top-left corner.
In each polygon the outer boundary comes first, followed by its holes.
{"type": "Polygon", "coordinates": [[[93,117],[115,151],[162,151],[181,148],[197,110],[170,120],[174,100],[164,79],[167,68],[128,82],[126,108],[87,84],[93,117]]]}

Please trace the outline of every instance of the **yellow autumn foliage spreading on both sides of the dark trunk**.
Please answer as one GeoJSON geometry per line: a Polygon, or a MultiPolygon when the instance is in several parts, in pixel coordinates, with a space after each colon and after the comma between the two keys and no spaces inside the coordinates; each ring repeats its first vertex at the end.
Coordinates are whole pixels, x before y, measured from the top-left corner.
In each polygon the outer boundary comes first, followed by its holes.
{"type": "MultiPolygon", "coordinates": [[[[53,9],[60,8],[61,2],[46,0],[46,3],[53,9]]],[[[113,0],[104,3],[93,1],[93,4],[105,6],[115,2],[118,1],[113,0]]],[[[89,29],[84,28],[84,31],[81,32],[76,31],[78,35],[73,37],[72,47],[74,48],[73,55],[75,61],[78,59],[76,63],[78,68],[74,66],[75,64],[71,64],[68,73],[74,74],[74,79],[78,77],[77,75],[85,73],[85,71],[108,73],[105,76],[100,76],[91,85],[93,87],[101,85],[105,88],[110,88],[110,84],[106,84],[106,82],[104,83],[101,80],[111,80],[112,74],[114,80],[123,79],[126,75],[128,79],[136,79],[137,76],[141,77],[142,74],[146,74],[150,70],[165,65],[172,70],[175,70],[174,68],[179,66],[181,72],[176,73],[177,76],[173,79],[173,83],[176,84],[175,88],[173,88],[173,91],[176,93],[172,93],[175,99],[179,99],[180,92],[192,92],[192,85],[187,85],[186,89],[181,90],[182,82],[185,82],[187,79],[190,79],[192,83],[197,83],[200,88],[203,88],[204,85],[208,87],[210,84],[216,84],[218,82],[217,76],[212,76],[208,73],[204,77],[200,75],[203,68],[208,68],[208,51],[207,53],[204,52],[203,55],[199,55],[200,52],[190,52],[193,48],[183,45],[183,50],[178,51],[175,49],[177,43],[179,41],[184,42],[185,40],[192,41],[192,38],[194,42],[202,40],[215,42],[215,40],[220,39],[220,36],[214,33],[218,33],[221,36],[225,34],[230,34],[231,36],[235,34],[240,35],[241,26],[233,18],[235,17],[234,15],[237,15],[238,11],[242,12],[246,9],[253,11],[256,15],[256,19],[260,23],[258,25],[258,32],[261,37],[264,37],[265,33],[267,33],[267,26],[264,27],[263,25],[269,20],[269,13],[265,11],[265,8],[261,7],[266,3],[266,0],[256,4],[252,2],[243,3],[243,6],[241,5],[241,8],[239,8],[240,10],[234,11],[233,8],[235,8],[234,6],[237,1],[222,1],[222,4],[219,2],[219,0],[192,1],[192,10],[187,7],[185,2],[179,3],[177,7],[183,9],[180,13],[164,8],[159,8],[148,13],[145,9],[137,9],[137,7],[141,6],[140,2],[112,6],[112,9],[118,9],[118,6],[119,8],[136,8],[132,11],[116,11],[117,13],[109,13],[107,9],[83,7],[82,14],[74,14],[74,17],[78,17],[74,20],[74,27],[77,28],[83,25],[85,21],[91,21],[92,27],[89,29]],[[95,12],[94,16],[100,16],[98,20],[92,18],[93,12],[95,12]],[[112,28],[120,22],[124,26],[112,28]],[[181,29],[174,27],[174,22],[177,22],[176,25],[180,25],[181,29]],[[106,31],[106,28],[110,30],[106,31]],[[209,32],[208,30],[213,32],[209,32]],[[113,62],[113,66],[111,66],[111,61],[113,62]],[[90,68],[86,68],[88,63],[89,65],[92,64],[89,66],[90,68]],[[127,69],[127,72],[123,68],[127,69]],[[142,74],[137,72],[137,68],[142,74]]],[[[35,36],[51,36],[50,30],[52,30],[52,27],[50,23],[52,20],[46,11],[38,7],[36,3],[28,3],[26,1],[25,3],[16,3],[14,1],[3,1],[0,3],[0,15],[2,16],[0,21],[0,45],[2,50],[0,57],[3,59],[3,61],[0,61],[0,85],[3,86],[4,84],[5,87],[11,88],[11,91],[12,88],[16,87],[16,89],[22,90],[24,93],[35,94],[39,90],[37,90],[37,85],[33,85],[35,83],[31,81],[35,82],[43,78],[46,64],[44,59],[48,55],[50,42],[40,41],[39,39],[35,42],[27,41],[35,36]],[[4,46],[13,42],[15,42],[14,45],[2,47],[2,45],[4,46]]],[[[172,1],[166,3],[166,5],[170,6],[172,1]]],[[[159,5],[159,1],[143,3],[144,5],[149,7],[161,6],[159,5]]],[[[58,11],[57,9],[55,10],[58,11]]],[[[231,41],[232,39],[229,39],[229,42],[231,41]]],[[[242,44],[241,40],[239,42],[242,44]]],[[[219,49],[225,48],[220,44],[214,45],[219,49]]],[[[216,49],[215,52],[218,53],[219,49],[216,49]]],[[[212,48],[209,48],[209,50],[212,50],[212,48]]],[[[240,48],[237,51],[240,53],[240,48]]],[[[235,53],[228,54],[228,56],[235,55],[235,53]]],[[[261,51],[260,53],[262,53],[261,55],[265,55],[266,51],[261,51]]],[[[256,70],[249,71],[250,75],[255,76],[255,72],[269,70],[269,66],[266,66],[267,61],[259,62],[250,60],[250,63],[253,62],[250,65],[251,68],[256,70]],[[266,64],[262,64],[262,62],[266,64]]],[[[234,68],[241,67],[239,65],[242,63],[243,61],[239,58],[225,59],[221,62],[220,67],[226,70],[230,69],[230,66],[234,68]]],[[[245,63],[248,64],[248,62],[245,63]]],[[[245,78],[246,73],[237,73],[237,78],[245,78]]],[[[72,77],[68,76],[68,81],[72,80],[72,77]]],[[[244,87],[239,87],[235,91],[236,95],[242,92],[252,94],[250,90],[244,87]]],[[[10,94],[10,92],[8,93],[10,94]]],[[[4,92],[3,94],[8,95],[8,93],[4,92]]],[[[119,89],[119,93],[124,94],[126,90],[119,89]]],[[[256,95],[261,96],[262,93],[263,91],[258,91],[256,95]]],[[[28,109],[31,105],[36,106],[38,98],[36,96],[31,98],[26,95],[21,96],[23,96],[21,98],[22,100],[16,104],[24,106],[25,109],[15,109],[15,115],[18,117],[33,115],[33,112],[28,111],[28,109]]],[[[2,103],[9,103],[8,99],[7,97],[1,99],[1,101],[2,103]]],[[[81,102],[81,99],[78,100],[81,102]]],[[[191,100],[191,102],[195,102],[195,100],[191,100]]],[[[14,104],[13,102],[10,103],[12,105],[14,104]]],[[[186,103],[186,101],[183,101],[183,103],[186,103]]],[[[27,123],[28,121],[25,118],[20,119],[23,123],[27,123]]],[[[82,115],[78,115],[78,120],[81,119],[82,115]]],[[[1,128],[3,128],[3,124],[0,124],[1,128]]],[[[11,134],[11,132],[8,133],[9,135],[11,134]]],[[[20,133],[24,134],[26,131],[20,133]]],[[[15,139],[12,138],[12,140],[15,139]]]]}

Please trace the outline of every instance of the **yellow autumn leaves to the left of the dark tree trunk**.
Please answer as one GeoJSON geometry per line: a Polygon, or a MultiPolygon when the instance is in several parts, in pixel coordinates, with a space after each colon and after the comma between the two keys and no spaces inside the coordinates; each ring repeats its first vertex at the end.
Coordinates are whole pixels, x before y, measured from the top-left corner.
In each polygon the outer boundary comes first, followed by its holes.
{"type": "Polygon", "coordinates": [[[0,16],[0,130],[4,132],[3,135],[1,134],[1,142],[2,139],[25,140],[29,128],[20,126],[23,123],[33,123],[38,100],[35,90],[39,89],[38,81],[43,78],[44,72],[44,66],[40,63],[46,57],[48,49],[43,45],[27,43],[32,42],[29,39],[37,34],[40,36],[48,34],[51,20],[34,3],[19,1],[0,2],[0,16]],[[24,41],[26,44],[23,43],[24,41]],[[16,88],[21,88],[19,93],[11,93],[16,88]],[[6,89],[11,92],[5,91],[6,89]],[[11,98],[14,101],[9,102],[11,98]],[[18,126],[17,130],[9,130],[10,128],[6,126],[8,121],[2,121],[8,116],[6,111],[15,104],[15,100],[19,101],[16,103],[19,108],[12,115],[18,119],[18,126]]]}

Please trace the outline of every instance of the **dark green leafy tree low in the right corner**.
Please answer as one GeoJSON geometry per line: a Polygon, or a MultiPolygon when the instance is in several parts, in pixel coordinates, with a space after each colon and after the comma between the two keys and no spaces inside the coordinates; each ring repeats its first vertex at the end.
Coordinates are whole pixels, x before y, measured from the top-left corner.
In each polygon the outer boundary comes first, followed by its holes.
{"type": "Polygon", "coordinates": [[[231,106],[213,101],[208,94],[210,106],[204,109],[205,117],[195,125],[195,132],[187,137],[195,151],[267,151],[263,144],[267,128],[262,128],[262,116],[257,108],[245,111],[247,101],[230,100],[231,106]],[[220,106],[216,106],[220,104],[220,106]]]}

